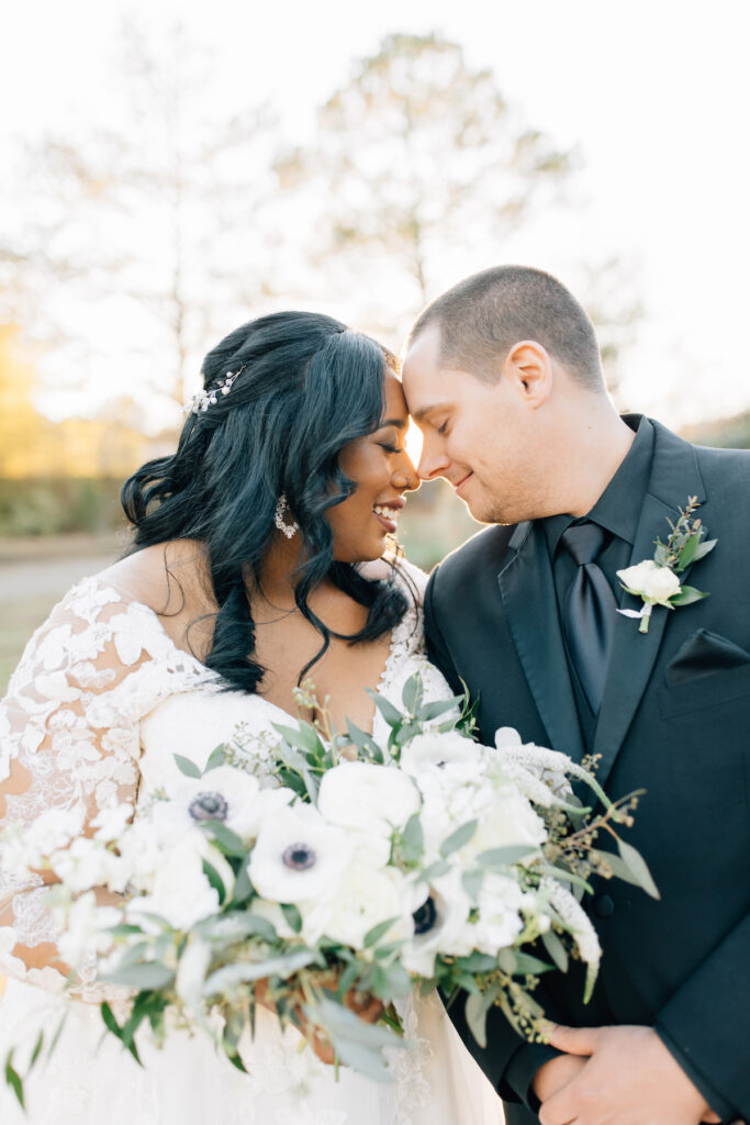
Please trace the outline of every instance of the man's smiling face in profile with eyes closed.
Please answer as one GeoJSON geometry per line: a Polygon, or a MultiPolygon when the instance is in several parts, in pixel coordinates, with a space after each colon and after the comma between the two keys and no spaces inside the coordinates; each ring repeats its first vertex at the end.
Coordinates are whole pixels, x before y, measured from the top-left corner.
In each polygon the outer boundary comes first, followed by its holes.
{"type": "Polygon", "coordinates": [[[539,514],[545,492],[534,416],[509,376],[440,362],[440,327],[417,336],[404,361],[409,413],[422,430],[423,480],[444,477],[481,523],[518,523],[539,514]]]}

